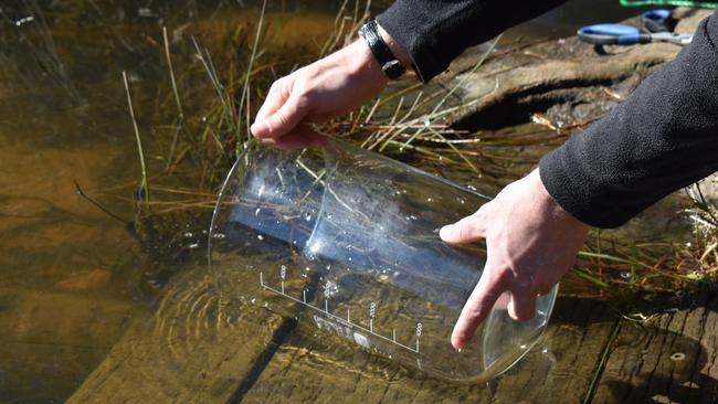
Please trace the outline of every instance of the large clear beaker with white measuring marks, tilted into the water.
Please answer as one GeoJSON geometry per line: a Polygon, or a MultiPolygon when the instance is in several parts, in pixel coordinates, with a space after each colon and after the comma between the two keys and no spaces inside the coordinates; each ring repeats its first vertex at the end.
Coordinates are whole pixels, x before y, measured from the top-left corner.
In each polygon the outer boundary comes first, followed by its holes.
{"type": "Polygon", "coordinates": [[[252,143],[229,173],[210,232],[210,274],[229,306],[254,304],[431,375],[485,381],[546,328],[499,298],[474,339],[450,337],[484,265],[482,245],[450,246],[444,224],[486,198],[347,142],[286,151],[252,143]]]}

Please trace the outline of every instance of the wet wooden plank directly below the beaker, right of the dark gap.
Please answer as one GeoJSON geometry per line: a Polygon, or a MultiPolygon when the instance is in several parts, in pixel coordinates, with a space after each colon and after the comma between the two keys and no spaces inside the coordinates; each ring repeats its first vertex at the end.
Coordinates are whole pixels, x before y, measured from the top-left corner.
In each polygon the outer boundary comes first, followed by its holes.
{"type": "Polygon", "coordinates": [[[338,338],[297,332],[256,383],[235,398],[243,403],[580,402],[614,321],[601,302],[559,299],[549,330],[527,358],[507,374],[479,384],[427,378],[338,338]]]}

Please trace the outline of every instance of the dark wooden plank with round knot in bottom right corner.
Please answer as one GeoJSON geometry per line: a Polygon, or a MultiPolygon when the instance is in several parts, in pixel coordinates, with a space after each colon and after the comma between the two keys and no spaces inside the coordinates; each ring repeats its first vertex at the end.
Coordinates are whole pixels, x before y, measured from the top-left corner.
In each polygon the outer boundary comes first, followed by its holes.
{"type": "Polygon", "coordinates": [[[709,294],[688,298],[647,326],[624,321],[593,402],[716,402],[716,300],[709,294]]]}

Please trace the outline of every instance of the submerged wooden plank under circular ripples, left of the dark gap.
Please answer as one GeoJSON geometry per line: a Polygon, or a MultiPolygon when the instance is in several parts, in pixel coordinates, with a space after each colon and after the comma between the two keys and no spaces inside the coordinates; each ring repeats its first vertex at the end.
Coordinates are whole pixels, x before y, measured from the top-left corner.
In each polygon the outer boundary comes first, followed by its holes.
{"type": "Polygon", "coordinates": [[[271,360],[293,325],[267,310],[224,310],[201,270],[169,286],[70,403],[228,402],[271,360]]]}

